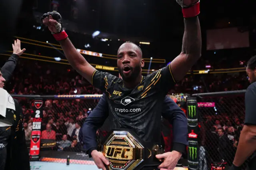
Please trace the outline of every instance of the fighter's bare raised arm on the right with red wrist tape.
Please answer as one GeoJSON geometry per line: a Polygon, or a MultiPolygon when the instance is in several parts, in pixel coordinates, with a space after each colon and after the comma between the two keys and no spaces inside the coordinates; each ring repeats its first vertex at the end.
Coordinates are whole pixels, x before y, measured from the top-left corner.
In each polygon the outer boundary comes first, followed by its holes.
{"type": "Polygon", "coordinates": [[[170,63],[172,76],[175,81],[182,80],[201,56],[202,38],[200,23],[197,16],[200,12],[200,2],[192,2],[191,6],[190,4],[186,4],[188,2],[185,1],[188,0],[178,2],[183,7],[182,12],[185,26],[182,51],[180,55],[170,63]]]}

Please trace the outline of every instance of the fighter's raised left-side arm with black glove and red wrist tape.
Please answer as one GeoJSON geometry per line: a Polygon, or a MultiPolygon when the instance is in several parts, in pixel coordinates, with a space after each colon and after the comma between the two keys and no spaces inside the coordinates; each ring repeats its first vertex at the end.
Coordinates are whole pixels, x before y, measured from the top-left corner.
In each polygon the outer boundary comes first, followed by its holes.
{"type": "Polygon", "coordinates": [[[87,81],[92,83],[92,75],[96,69],[86,61],[69,40],[68,35],[62,27],[62,17],[60,14],[58,12],[48,12],[42,16],[42,22],[48,26],[54,38],[60,42],[70,65],[87,81]]]}

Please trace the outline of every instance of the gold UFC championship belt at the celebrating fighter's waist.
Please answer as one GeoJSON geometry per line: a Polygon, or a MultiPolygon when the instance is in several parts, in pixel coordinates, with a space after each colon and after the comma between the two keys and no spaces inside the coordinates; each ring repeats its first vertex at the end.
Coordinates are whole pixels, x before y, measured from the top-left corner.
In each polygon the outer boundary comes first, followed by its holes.
{"type": "Polygon", "coordinates": [[[163,160],[156,155],[164,153],[162,145],[144,142],[128,129],[111,130],[99,149],[110,163],[108,170],[157,169],[163,160]]]}

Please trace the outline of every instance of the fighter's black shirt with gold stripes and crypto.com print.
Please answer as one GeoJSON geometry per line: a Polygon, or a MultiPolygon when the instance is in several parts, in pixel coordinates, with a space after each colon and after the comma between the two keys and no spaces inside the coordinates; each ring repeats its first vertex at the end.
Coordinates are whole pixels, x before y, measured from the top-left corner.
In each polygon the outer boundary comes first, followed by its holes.
{"type": "Polygon", "coordinates": [[[170,65],[142,77],[134,89],[110,73],[96,70],[92,75],[92,85],[107,95],[111,128],[132,129],[142,140],[158,143],[163,100],[174,84],[170,65]]]}

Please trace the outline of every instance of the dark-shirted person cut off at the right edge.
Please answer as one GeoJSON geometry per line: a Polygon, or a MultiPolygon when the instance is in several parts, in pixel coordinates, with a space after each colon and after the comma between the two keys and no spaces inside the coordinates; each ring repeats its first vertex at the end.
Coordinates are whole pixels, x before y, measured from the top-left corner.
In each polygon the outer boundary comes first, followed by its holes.
{"type": "Polygon", "coordinates": [[[230,170],[241,170],[242,164],[251,155],[246,170],[256,170],[256,55],[248,61],[246,73],[251,85],[245,93],[245,122],[230,170]]]}

